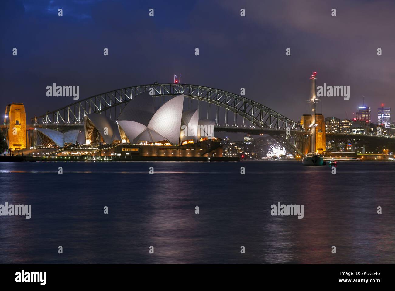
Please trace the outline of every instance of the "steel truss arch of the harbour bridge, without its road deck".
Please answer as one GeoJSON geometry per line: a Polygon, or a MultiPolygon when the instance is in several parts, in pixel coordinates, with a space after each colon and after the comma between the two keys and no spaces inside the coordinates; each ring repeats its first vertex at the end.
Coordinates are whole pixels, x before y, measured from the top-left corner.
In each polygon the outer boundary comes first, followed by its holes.
{"type": "Polygon", "coordinates": [[[289,127],[293,132],[303,131],[301,124],[283,116],[282,114],[266,107],[258,102],[248,99],[244,96],[230,93],[228,91],[190,84],[149,84],[133,87],[126,87],[117,89],[102,94],[94,95],[86,99],[79,100],[68,106],[54,110],[53,112],[46,112],[42,116],[38,116],[38,124],[76,124],[82,123],[85,114],[101,113],[106,110],[110,111],[110,119],[116,120],[119,116],[122,106],[132,100],[135,96],[153,89],[153,97],[160,96],[178,96],[184,94],[186,98],[198,101],[199,114],[202,114],[201,102],[207,103],[207,119],[211,118],[211,105],[216,106],[216,125],[219,126],[220,110],[222,107],[225,110],[225,124],[229,126],[229,111],[233,113],[233,125],[237,126],[237,116],[243,118],[243,127],[246,126],[246,121],[251,122],[251,126],[262,129],[273,130],[269,131],[272,137],[278,142],[286,145],[286,148],[293,154],[296,152],[301,154],[298,150],[300,138],[297,140],[295,134],[285,135],[285,130],[289,127]],[[119,112],[117,113],[117,108],[119,112]],[[115,109],[115,116],[111,118],[111,111],[115,109]],[[293,139],[293,142],[291,141],[293,139]]]}

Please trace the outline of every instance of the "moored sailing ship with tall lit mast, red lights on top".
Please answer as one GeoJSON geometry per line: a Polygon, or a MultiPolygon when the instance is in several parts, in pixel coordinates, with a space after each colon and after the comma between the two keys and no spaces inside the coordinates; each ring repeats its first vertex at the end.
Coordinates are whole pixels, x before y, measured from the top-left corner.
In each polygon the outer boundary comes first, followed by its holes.
{"type": "Polygon", "coordinates": [[[303,157],[302,164],[303,165],[312,165],[312,166],[319,166],[324,165],[324,158],[320,156],[316,149],[316,103],[318,99],[316,97],[316,76],[317,72],[313,72],[310,77],[311,80],[311,92],[310,92],[310,100],[311,103],[311,118],[310,118],[310,125],[309,128],[309,135],[310,135],[310,152],[303,157]]]}

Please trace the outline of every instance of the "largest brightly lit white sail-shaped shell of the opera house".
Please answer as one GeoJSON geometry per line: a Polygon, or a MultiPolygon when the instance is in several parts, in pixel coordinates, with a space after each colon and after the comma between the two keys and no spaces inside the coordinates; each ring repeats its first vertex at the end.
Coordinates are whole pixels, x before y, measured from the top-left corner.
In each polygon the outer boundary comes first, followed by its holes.
{"type": "Polygon", "coordinates": [[[159,135],[165,137],[173,145],[178,145],[180,141],[183,104],[184,94],[167,101],[152,116],[148,128],[153,129],[159,135]]]}

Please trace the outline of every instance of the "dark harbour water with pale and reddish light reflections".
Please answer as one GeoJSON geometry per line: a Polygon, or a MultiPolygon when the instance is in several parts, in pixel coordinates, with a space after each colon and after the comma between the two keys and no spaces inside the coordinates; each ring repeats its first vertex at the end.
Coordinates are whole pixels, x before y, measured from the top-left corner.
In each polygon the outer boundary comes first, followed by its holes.
{"type": "Polygon", "coordinates": [[[31,219],[0,217],[0,262],[393,263],[394,166],[0,163],[0,204],[32,204],[31,219]],[[271,216],[277,202],[304,218],[271,216]]]}

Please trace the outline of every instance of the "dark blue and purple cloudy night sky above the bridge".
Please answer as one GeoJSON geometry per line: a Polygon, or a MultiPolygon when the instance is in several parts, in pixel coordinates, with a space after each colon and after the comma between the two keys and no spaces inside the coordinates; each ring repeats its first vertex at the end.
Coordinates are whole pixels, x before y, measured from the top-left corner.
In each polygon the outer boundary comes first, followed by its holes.
{"type": "Polygon", "coordinates": [[[2,0],[0,5],[0,109],[23,102],[28,118],[73,102],[47,97],[46,86],[53,83],[79,85],[83,99],[156,80],[172,82],[179,73],[183,83],[238,94],[245,87],[246,97],[293,120],[308,113],[312,71],[318,72],[317,85],[350,86],[348,101],[322,98],[325,117],[352,118],[362,96],[372,107],[373,122],[382,103],[395,108],[394,1],[2,0]]]}

